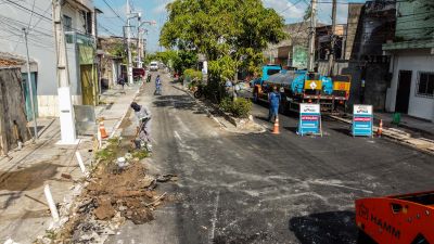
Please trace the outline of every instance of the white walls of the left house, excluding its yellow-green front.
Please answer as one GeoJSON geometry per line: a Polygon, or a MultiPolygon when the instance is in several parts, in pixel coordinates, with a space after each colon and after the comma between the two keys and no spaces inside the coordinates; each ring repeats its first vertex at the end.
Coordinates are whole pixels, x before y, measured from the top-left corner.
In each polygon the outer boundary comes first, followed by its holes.
{"type": "MultiPolygon", "coordinates": [[[[31,10],[34,0],[15,2],[31,10]]],[[[28,49],[30,57],[38,65],[39,116],[58,116],[58,81],[51,0],[35,0],[34,11],[47,18],[36,14],[31,15],[30,12],[13,3],[3,2],[1,4],[0,51],[25,56],[26,48],[22,37],[22,27],[30,27],[28,49]]],[[[62,11],[73,18],[73,28],[75,30],[85,30],[85,21],[78,11],[74,11],[68,4],[65,4],[62,11]]],[[[67,44],[67,51],[73,100],[75,104],[80,104],[81,88],[79,84],[79,67],[77,66],[78,55],[74,44],[67,44]]]]}

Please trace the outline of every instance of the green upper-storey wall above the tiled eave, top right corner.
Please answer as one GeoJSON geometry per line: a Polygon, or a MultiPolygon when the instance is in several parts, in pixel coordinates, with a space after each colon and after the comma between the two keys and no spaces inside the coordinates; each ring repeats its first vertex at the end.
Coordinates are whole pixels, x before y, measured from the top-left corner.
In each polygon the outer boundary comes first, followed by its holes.
{"type": "Polygon", "coordinates": [[[398,1],[395,41],[427,39],[434,39],[434,1],[398,1]]]}

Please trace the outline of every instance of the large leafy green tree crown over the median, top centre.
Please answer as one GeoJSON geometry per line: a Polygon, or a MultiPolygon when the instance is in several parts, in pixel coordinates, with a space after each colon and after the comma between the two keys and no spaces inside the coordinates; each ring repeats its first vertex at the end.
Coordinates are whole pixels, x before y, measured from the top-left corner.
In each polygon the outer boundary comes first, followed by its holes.
{"type": "Polygon", "coordinates": [[[284,20],[261,0],[175,0],[167,10],[161,44],[205,54],[215,80],[257,70],[268,43],[285,38],[284,20]]]}

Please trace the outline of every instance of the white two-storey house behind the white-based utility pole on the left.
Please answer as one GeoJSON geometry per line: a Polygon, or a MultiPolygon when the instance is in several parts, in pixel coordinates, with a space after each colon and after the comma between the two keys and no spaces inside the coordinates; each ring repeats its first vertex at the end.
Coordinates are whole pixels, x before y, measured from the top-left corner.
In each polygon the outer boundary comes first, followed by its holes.
{"type": "MultiPolygon", "coordinates": [[[[74,104],[97,102],[94,56],[97,23],[92,0],[65,0],[62,5],[74,104]]],[[[28,51],[39,116],[58,116],[58,80],[51,0],[4,1],[0,12],[0,52],[26,56],[23,28],[28,30],[28,51]]],[[[22,69],[26,73],[26,69],[22,69]]],[[[23,82],[26,76],[23,76],[23,82]]],[[[26,86],[26,84],[24,84],[26,86]]]]}

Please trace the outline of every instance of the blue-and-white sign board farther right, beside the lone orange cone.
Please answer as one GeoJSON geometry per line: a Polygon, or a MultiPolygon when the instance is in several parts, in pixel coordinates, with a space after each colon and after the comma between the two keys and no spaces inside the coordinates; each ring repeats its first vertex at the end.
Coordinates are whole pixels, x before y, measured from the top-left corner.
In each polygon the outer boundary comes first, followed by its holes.
{"type": "Polygon", "coordinates": [[[372,137],[372,105],[354,105],[353,137],[372,137]]]}

